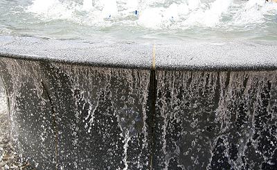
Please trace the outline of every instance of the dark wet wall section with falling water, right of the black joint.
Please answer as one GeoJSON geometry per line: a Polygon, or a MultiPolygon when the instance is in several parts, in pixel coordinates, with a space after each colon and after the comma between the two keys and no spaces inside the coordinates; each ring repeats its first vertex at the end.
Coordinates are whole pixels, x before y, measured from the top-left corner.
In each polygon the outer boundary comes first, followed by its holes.
{"type": "Polygon", "coordinates": [[[157,169],[270,169],[276,71],[158,71],[157,169]]]}

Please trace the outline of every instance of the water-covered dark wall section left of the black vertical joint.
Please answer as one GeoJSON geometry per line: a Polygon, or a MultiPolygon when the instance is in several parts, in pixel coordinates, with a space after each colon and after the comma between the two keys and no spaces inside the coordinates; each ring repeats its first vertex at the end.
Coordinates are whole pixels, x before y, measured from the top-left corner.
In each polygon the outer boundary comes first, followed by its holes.
{"type": "Polygon", "coordinates": [[[148,167],[148,71],[14,59],[1,59],[1,67],[13,143],[26,161],[59,169],[148,167]]]}

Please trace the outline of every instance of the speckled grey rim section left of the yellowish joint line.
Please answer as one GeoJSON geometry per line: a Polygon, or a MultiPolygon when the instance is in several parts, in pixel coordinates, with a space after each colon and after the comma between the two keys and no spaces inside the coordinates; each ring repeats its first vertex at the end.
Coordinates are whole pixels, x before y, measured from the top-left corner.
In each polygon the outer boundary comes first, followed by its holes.
{"type": "Polygon", "coordinates": [[[151,44],[0,36],[0,55],[120,68],[151,68],[151,44]]]}

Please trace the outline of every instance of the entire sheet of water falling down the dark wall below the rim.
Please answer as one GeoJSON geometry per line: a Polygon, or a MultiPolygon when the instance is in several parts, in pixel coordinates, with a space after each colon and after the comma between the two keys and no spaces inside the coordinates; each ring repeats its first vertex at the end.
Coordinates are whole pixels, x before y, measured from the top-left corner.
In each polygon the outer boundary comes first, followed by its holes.
{"type": "Polygon", "coordinates": [[[269,169],[277,74],[0,60],[12,139],[52,169],[269,169]]]}

